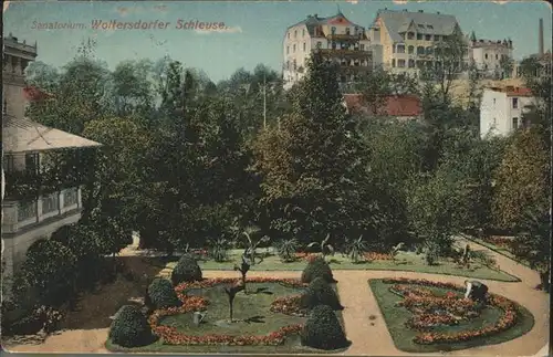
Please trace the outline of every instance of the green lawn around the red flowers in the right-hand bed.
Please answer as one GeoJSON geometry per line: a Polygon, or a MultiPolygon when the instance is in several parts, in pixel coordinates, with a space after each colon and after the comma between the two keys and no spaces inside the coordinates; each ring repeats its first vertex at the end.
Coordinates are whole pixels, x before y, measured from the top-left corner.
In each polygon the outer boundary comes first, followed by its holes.
{"type": "MultiPolygon", "coordinates": [[[[512,328],[500,333],[498,335],[476,338],[467,342],[460,342],[456,344],[435,344],[435,345],[419,345],[416,344],[413,338],[418,334],[405,326],[405,322],[411,316],[411,313],[405,307],[397,307],[395,304],[401,300],[400,296],[392,293],[389,291],[390,284],[385,284],[382,280],[372,280],[368,282],[369,287],[375,294],[378,306],[383,313],[384,319],[388,327],[388,330],[394,339],[394,344],[400,350],[408,353],[434,353],[434,351],[445,351],[445,350],[459,350],[477,346],[484,345],[495,345],[501,344],[517,337],[520,337],[532,329],[534,326],[534,317],[524,307],[520,307],[520,322],[512,328]]],[[[445,294],[447,290],[428,287],[438,294],[445,294]]],[[[435,327],[434,332],[460,332],[469,330],[476,328],[482,328],[488,325],[492,325],[501,316],[501,311],[497,307],[487,307],[482,314],[470,321],[457,326],[439,326],[435,327]]]]}

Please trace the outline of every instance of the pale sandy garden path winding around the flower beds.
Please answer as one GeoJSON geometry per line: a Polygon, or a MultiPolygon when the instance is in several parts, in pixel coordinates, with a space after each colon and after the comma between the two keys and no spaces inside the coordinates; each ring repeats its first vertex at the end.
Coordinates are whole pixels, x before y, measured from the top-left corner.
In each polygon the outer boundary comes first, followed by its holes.
{"type": "MultiPolygon", "coordinates": [[[[471,246],[484,249],[477,243],[469,242],[471,246]]],[[[538,273],[522,264],[488,250],[501,269],[510,274],[521,277],[522,282],[505,283],[482,280],[493,293],[511,298],[526,307],[535,318],[534,328],[524,336],[507,343],[474,347],[458,351],[447,351],[439,355],[449,356],[532,356],[535,355],[549,342],[549,295],[535,291],[539,284],[538,273]]],[[[298,272],[261,272],[252,271],[248,276],[278,276],[298,277],[298,272]]],[[[232,271],[205,271],[205,277],[237,276],[232,271]]],[[[343,317],[345,329],[352,346],[342,355],[366,355],[373,356],[411,356],[413,353],[398,350],[386,327],[378,304],[368,287],[369,279],[383,277],[410,277],[428,279],[439,282],[462,284],[465,277],[436,274],[424,274],[416,272],[399,271],[334,271],[338,281],[338,292],[342,304],[345,306],[343,317]],[[374,315],[374,319],[369,316],[374,315]],[[374,325],[371,325],[371,324],[374,325]]],[[[11,351],[41,351],[41,353],[105,353],[104,342],[107,338],[107,328],[102,329],[74,329],[62,332],[50,336],[41,345],[20,345],[9,347],[11,351]]]]}

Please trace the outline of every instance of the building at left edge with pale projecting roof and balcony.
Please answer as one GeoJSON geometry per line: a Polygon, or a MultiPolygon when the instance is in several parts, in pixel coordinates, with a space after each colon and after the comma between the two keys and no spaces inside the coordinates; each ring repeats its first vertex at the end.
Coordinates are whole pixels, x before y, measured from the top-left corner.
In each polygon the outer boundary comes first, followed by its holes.
{"type": "MultiPolygon", "coordinates": [[[[81,218],[81,187],[59,190],[38,189],[21,195],[24,185],[40,181],[49,153],[100,146],[98,143],[45,127],[25,118],[29,94],[24,69],[36,56],[36,45],[4,39],[2,106],[2,275],[12,276],[29,246],[49,238],[60,227],[81,218]]],[[[4,284],[6,286],[6,284],[4,284]]],[[[8,292],[7,292],[8,293],[8,292]]]]}

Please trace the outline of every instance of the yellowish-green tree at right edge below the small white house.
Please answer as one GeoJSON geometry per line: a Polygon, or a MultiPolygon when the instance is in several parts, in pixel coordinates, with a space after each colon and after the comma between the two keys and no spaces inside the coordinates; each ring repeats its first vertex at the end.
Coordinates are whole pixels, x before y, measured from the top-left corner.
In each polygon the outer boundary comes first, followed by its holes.
{"type": "Polygon", "coordinates": [[[514,134],[494,172],[492,212],[499,227],[521,228],[526,208],[549,203],[549,153],[538,130],[528,129],[514,134]]]}

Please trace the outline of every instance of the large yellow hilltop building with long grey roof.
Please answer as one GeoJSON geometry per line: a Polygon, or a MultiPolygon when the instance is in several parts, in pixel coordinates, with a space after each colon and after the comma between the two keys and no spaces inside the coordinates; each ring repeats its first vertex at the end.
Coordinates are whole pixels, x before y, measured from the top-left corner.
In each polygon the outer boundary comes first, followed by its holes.
{"type": "MultiPolygon", "coordinates": [[[[382,46],[380,62],[386,71],[419,74],[440,65],[436,49],[448,36],[462,34],[453,15],[422,10],[378,10],[368,30],[374,45],[382,46]]],[[[438,50],[439,51],[439,50],[438,50]]],[[[468,61],[468,53],[463,55],[468,61]]]]}

